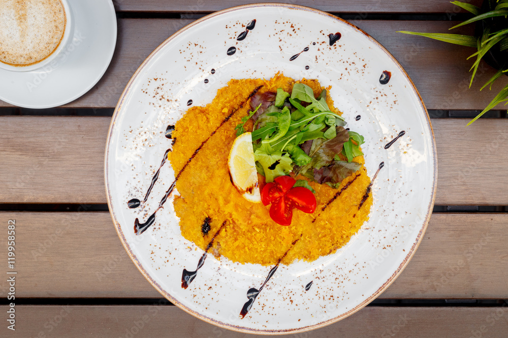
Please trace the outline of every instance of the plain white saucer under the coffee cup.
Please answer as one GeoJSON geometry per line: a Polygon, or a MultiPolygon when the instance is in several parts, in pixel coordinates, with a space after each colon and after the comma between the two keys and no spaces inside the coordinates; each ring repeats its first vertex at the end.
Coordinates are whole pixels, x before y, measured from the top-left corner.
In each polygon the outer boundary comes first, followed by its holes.
{"type": "Polygon", "coordinates": [[[51,108],[86,93],[104,75],[116,46],[116,14],[111,0],[69,0],[71,39],[43,68],[0,69],[0,99],[25,108],[51,108]]]}

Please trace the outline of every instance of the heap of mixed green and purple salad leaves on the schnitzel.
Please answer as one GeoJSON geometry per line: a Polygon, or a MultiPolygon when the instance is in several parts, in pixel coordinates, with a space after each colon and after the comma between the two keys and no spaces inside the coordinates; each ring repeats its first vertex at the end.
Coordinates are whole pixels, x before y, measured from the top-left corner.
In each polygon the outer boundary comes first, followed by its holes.
{"type": "Polygon", "coordinates": [[[254,123],[252,146],[257,171],[267,183],[279,176],[301,174],[337,189],[340,182],[360,169],[353,162],[363,155],[362,135],[344,129],[344,119],[326,103],[327,91],[314,97],[312,88],[295,84],[290,93],[254,95],[252,111],[236,126],[237,135],[245,132],[247,120],[254,123]]]}

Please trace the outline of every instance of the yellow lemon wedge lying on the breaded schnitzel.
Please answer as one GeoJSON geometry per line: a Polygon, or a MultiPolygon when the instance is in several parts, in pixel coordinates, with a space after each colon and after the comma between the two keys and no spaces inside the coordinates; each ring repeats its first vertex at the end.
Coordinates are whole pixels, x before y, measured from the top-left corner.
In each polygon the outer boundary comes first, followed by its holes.
{"type": "Polygon", "coordinates": [[[229,153],[228,166],[231,182],[240,194],[251,202],[261,202],[250,133],[243,133],[235,139],[229,153]]]}

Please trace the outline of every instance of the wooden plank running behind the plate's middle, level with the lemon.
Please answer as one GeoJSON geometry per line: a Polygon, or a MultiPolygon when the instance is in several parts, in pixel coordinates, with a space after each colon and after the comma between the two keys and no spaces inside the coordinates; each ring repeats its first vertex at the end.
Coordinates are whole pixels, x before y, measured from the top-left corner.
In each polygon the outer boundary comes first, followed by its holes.
{"type": "MultiPolygon", "coordinates": [[[[108,117],[0,117],[0,203],[107,203],[108,117]],[[55,132],[57,131],[57,132],[55,132]]],[[[434,119],[436,205],[508,205],[508,120],[434,119]],[[485,135],[489,135],[487,142],[485,135]],[[484,161],[472,160],[482,154],[484,161]]]]}

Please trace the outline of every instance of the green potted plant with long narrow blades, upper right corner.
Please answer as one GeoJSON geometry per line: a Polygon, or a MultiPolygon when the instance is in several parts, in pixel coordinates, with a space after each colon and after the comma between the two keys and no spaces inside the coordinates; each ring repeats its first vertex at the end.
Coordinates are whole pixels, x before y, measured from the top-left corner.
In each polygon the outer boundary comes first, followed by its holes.
{"type": "MultiPolygon", "coordinates": [[[[482,59],[498,69],[498,71],[480,90],[489,85],[492,87],[494,81],[499,79],[503,74],[508,76],[508,0],[485,0],[481,8],[459,1],[454,1],[452,4],[471,12],[474,16],[450,29],[474,22],[477,24],[475,36],[409,31],[399,31],[399,33],[421,35],[451,44],[476,48],[477,52],[469,56],[469,58],[474,58],[474,63],[471,69],[469,69],[470,71],[472,70],[469,87],[471,87],[474,75],[482,59]]],[[[498,103],[505,101],[505,105],[508,104],[508,85],[504,86],[489,105],[467,125],[476,121],[498,103]]]]}

